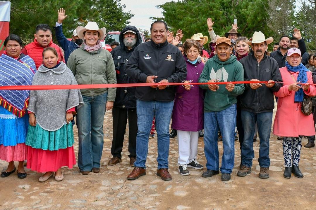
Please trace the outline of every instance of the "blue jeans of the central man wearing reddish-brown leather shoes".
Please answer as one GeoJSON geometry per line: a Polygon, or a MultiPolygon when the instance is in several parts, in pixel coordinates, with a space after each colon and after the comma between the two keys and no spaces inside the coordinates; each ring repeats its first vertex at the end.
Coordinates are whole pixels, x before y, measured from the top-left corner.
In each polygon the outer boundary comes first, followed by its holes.
{"type": "Polygon", "coordinates": [[[151,123],[155,116],[157,145],[158,145],[158,169],[168,168],[169,157],[169,124],[173,101],[142,101],[137,99],[137,138],[135,167],[146,168],[145,163],[148,154],[148,137],[151,123]]]}

